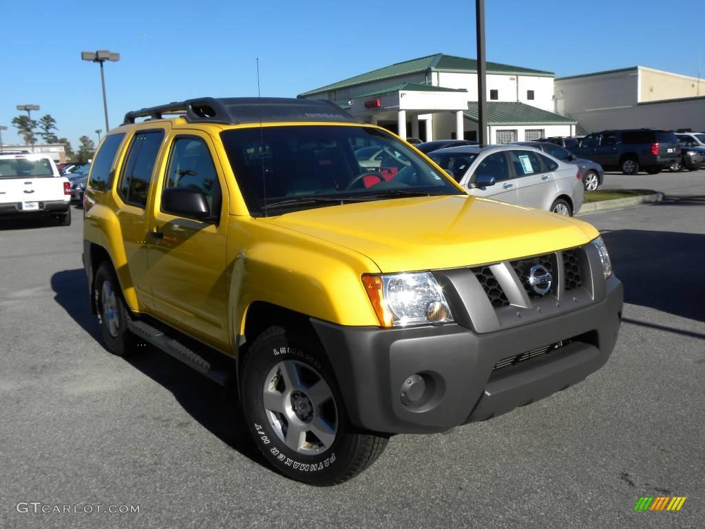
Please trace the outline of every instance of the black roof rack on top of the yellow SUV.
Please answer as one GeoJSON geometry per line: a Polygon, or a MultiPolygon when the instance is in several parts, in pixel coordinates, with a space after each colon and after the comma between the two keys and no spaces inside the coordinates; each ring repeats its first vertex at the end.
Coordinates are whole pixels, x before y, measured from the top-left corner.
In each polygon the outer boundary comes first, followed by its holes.
{"type": "Polygon", "coordinates": [[[157,107],[133,110],[125,114],[123,125],[135,118],[161,119],[177,114],[189,123],[268,123],[272,121],[344,121],[359,123],[332,101],[324,99],[290,99],[287,97],[200,97],[171,102],[157,107]]]}

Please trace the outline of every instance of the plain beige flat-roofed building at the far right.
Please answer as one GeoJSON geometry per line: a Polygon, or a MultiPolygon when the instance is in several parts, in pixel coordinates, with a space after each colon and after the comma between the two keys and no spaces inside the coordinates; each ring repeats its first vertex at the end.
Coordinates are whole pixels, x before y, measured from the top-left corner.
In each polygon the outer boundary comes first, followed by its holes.
{"type": "Polygon", "coordinates": [[[556,78],[556,114],[584,132],[606,128],[705,130],[703,80],[644,66],[556,78]]]}

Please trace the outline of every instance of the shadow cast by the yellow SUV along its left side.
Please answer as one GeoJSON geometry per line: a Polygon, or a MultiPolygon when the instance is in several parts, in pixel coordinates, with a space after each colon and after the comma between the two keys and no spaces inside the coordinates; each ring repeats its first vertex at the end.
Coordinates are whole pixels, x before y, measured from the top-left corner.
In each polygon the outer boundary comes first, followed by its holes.
{"type": "MultiPolygon", "coordinates": [[[[101,346],[98,322],[90,310],[88,281],[82,268],[51,276],[54,300],[101,346]]],[[[140,347],[125,358],[137,370],[161,384],[197,422],[243,456],[266,466],[248,434],[235,391],[224,389],[152,346],[140,347]]],[[[269,468],[269,467],[268,467],[269,468]]]]}

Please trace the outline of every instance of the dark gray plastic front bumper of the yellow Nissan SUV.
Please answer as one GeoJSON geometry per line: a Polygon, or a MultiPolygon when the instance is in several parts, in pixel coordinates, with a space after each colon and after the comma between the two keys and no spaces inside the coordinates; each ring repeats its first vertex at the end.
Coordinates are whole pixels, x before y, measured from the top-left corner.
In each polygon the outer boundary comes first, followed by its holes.
{"type": "Polygon", "coordinates": [[[543,399],[604,365],[622,315],[623,286],[614,276],[605,294],[571,312],[484,334],[458,324],[410,329],[312,324],[353,425],[386,433],[441,432],[543,399]],[[508,357],[560,341],[571,343],[495,369],[508,357]],[[433,394],[422,406],[407,406],[400,399],[402,386],[419,373],[432,381],[433,394]]]}

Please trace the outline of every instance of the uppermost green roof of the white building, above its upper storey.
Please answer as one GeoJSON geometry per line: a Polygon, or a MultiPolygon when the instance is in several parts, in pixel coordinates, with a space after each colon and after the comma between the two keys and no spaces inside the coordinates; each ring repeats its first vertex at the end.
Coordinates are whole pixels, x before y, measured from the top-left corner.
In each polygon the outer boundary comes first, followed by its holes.
{"type": "MultiPolygon", "coordinates": [[[[408,75],[410,73],[419,73],[425,71],[454,71],[476,73],[477,61],[475,59],[465,59],[464,57],[456,57],[453,55],[444,54],[434,54],[425,57],[419,57],[418,59],[411,59],[410,61],[403,61],[400,63],[394,63],[390,66],[384,66],[384,68],[377,68],[376,70],[373,70],[371,72],[355,75],[355,77],[350,77],[348,79],[338,81],[337,83],[331,83],[330,85],[321,86],[320,88],[304,92],[298,97],[307,97],[309,95],[315,95],[321,92],[329,92],[330,90],[338,90],[340,88],[347,88],[355,85],[362,85],[364,83],[372,83],[373,81],[395,78],[399,77],[400,75],[408,75]]],[[[510,66],[508,64],[491,62],[487,63],[487,73],[520,73],[524,75],[553,77],[552,72],[532,70],[530,68],[520,68],[518,66],[510,66]]]]}

